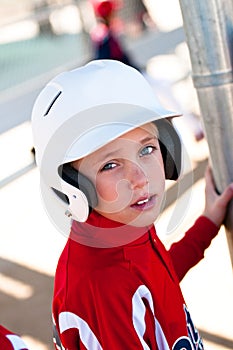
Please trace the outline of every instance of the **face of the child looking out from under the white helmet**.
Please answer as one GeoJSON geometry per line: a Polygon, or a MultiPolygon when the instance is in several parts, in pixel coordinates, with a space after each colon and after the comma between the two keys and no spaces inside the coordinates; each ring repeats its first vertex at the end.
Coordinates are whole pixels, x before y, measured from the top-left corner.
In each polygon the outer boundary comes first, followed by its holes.
{"type": "Polygon", "coordinates": [[[94,183],[101,215],[139,227],[158,217],[165,174],[154,124],[129,131],[72,165],[94,183]]]}

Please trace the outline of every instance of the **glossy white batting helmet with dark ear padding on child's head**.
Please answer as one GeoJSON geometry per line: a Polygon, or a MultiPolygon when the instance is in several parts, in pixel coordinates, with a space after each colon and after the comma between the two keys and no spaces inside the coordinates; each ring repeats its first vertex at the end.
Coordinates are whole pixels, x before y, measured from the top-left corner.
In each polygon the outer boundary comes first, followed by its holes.
{"type": "Polygon", "coordinates": [[[95,188],[68,164],[149,122],[159,130],[166,178],[177,179],[181,144],[166,118],[178,115],[164,109],[144,77],[121,62],[97,60],[59,74],[41,91],[32,112],[36,162],[53,205],[86,221],[97,204],[95,188]]]}

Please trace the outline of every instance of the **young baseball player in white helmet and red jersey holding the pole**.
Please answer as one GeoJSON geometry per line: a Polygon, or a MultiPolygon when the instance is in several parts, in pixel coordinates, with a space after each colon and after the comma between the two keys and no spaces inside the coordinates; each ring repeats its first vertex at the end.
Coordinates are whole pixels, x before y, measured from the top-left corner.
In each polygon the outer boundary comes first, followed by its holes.
{"type": "Polygon", "coordinates": [[[71,219],[54,285],[57,349],[203,349],[179,282],[217,235],[233,186],[217,195],[208,168],[203,215],[164,248],[154,222],[165,180],[181,169],[175,116],[137,70],[111,60],[63,73],[39,95],[45,202],[71,219]]]}

